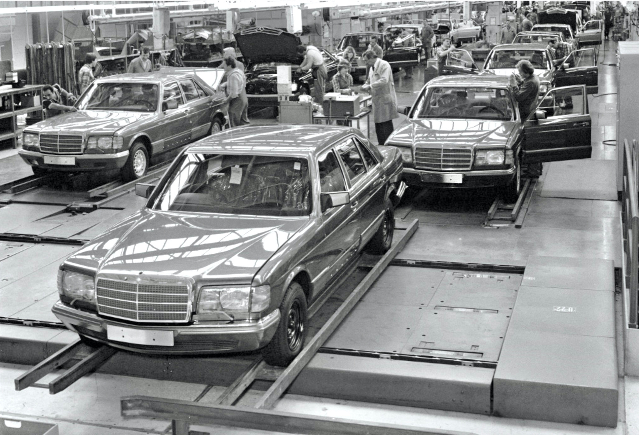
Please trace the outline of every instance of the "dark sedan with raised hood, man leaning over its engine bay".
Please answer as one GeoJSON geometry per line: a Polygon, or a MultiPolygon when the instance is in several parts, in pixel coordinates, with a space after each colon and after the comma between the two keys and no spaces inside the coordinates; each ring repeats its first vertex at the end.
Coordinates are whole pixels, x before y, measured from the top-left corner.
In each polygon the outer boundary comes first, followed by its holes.
{"type": "MultiPolygon", "coordinates": [[[[245,65],[246,95],[249,107],[277,107],[277,66],[291,65],[293,95],[312,95],[315,80],[310,71],[298,73],[304,56],[297,53],[302,42],[299,36],[271,27],[249,27],[235,34],[235,40],[245,65]]],[[[328,72],[326,91],[332,89],[332,77],[337,73],[337,58],[318,47],[328,72]]],[[[321,102],[319,102],[321,104],[321,102]]]]}

